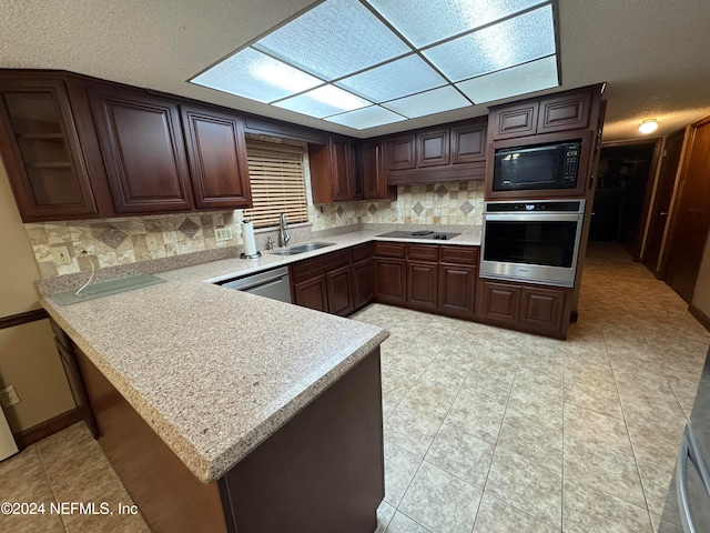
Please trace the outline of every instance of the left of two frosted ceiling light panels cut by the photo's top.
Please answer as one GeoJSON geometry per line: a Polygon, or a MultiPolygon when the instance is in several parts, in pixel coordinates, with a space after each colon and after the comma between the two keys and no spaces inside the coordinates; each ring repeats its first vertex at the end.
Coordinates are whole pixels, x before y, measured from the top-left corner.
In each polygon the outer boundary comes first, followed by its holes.
{"type": "Polygon", "coordinates": [[[357,0],[328,0],[254,48],[333,80],[412,51],[357,0]]]}

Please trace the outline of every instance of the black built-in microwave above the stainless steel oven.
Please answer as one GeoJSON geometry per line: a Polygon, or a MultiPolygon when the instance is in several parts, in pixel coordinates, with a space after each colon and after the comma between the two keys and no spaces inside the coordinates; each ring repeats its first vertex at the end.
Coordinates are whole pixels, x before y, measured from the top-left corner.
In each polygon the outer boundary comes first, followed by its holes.
{"type": "Polygon", "coordinates": [[[496,149],[493,190],[575,189],[580,155],[581,139],[496,149]]]}

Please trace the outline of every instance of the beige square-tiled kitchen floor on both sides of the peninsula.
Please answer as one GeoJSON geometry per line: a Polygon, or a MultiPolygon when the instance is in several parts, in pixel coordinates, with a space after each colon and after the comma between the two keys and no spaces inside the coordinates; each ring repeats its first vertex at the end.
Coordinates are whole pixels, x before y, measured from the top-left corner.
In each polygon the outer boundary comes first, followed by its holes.
{"type": "MultiPolygon", "coordinates": [[[[710,334],[616,245],[591,247],[579,313],[567,342],[377,304],[355,316],[392,333],[378,532],[656,531],[710,334]]],[[[0,500],[131,503],[83,424],[0,463],[0,500]]],[[[48,514],[0,531],[149,530],[48,514]]]]}

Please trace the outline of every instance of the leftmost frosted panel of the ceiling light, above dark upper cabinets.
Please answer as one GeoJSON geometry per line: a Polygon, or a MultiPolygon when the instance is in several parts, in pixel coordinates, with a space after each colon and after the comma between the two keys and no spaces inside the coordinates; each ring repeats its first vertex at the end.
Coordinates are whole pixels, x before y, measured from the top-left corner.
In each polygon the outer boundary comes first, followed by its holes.
{"type": "Polygon", "coordinates": [[[311,74],[251,48],[235,53],[190,81],[258,102],[273,102],[323,83],[311,74]]]}

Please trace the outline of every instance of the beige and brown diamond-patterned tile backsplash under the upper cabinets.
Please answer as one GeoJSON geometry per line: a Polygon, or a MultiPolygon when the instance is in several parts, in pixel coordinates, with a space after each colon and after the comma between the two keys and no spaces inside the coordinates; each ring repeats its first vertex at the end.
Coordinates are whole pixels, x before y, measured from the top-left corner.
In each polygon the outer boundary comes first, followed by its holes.
{"type": "MultiPolygon", "coordinates": [[[[310,183],[307,183],[310,191],[310,183]]],[[[468,225],[483,224],[483,181],[400,185],[397,200],[361,201],[313,205],[308,198],[311,231],[358,224],[468,225]]],[[[310,194],[308,194],[310,195],[310,194]]],[[[243,211],[126,217],[106,220],[24,224],[42,279],[241,247],[243,211]],[[231,228],[232,239],[217,241],[215,228],[231,228]],[[53,249],[67,247],[69,264],[57,264],[53,249]]],[[[366,228],[366,225],[365,225],[366,228]]],[[[257,234],[263,248],[267,232],[257,234]]],[[[272,232],[275,237],[275,232],[272,232]]]]}

